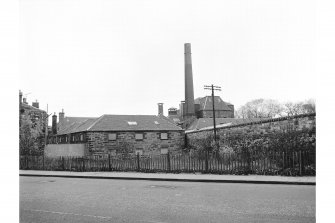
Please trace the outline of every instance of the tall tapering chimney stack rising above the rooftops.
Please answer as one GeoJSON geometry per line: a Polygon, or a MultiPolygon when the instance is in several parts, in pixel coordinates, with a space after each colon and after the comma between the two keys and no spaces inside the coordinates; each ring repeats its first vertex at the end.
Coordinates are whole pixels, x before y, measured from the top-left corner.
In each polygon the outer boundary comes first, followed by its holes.
{"type": "Polygon", "coordinates": [[[193,73],[191,59],[191,44],[184,44],[185,52],[185,115],[186,117],[195,116],[194,111],[194,90],[193,90],[193,73]]]}

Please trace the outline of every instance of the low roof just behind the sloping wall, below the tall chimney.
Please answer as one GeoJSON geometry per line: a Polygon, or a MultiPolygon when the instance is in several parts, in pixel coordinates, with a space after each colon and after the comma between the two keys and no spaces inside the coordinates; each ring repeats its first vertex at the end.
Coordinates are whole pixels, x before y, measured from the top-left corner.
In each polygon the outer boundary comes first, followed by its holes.
{"type": "MultiPolygon", "coordinates": [[[[216,118],[215,124],[216,127],[225,126],[225,125],[236,125],[242,123],[249,123],[264,120],[260,118],[252,118],[252,119],[242,119],[242,118],[216,118]]],[[[203,128],[213,127],[213,119],[212,118],[199,118],[194,120],[194,122],[187,128],[187,130],[200,130],[203,128]]]]}

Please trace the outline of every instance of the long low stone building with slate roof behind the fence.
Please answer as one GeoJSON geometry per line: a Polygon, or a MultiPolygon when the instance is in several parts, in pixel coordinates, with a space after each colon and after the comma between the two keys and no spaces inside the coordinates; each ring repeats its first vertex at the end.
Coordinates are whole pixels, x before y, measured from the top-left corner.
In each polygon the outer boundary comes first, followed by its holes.
{"type": "Polygon", "coordinates": [[[49,138],[48,157],[180,153],[184,146],[184,130],[155,115],[62,117],[59,126],[49,138]]]}

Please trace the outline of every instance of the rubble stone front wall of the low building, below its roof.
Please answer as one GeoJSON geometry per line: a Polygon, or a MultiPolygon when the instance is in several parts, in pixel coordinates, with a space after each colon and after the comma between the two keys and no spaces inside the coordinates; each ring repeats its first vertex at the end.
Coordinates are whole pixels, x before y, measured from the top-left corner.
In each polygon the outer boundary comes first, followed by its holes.
{"type": "Polygon", "coordinates": [[[117,154],[121,149],[129,153],[142,150],[144,155],[161,154],[161,149],[170,153],[179,153],[184,145],[183,132],[167,132],[168,139],[160,139],[161,132],[140,132],[143,139],[135,139],[135,132],[87,132],[86,146],[91,155],[117,154]],[[116,139],[109,139],[109,134],[116,134],[116,139]]]}

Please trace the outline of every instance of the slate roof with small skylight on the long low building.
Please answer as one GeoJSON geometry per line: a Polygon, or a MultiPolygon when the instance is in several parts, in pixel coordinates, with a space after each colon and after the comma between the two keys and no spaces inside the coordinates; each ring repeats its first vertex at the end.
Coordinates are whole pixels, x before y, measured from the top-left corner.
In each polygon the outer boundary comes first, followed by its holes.
{"type": "Polygon", "coordinates": [[[99,118],[71,118],[69,120],[71,124],[59,130],[58,135],[85,131],[182,131],[182,128],[155,115],[103,115],[99,118]],[[128,122],[137,124],[130,125],[128,122]]]}

